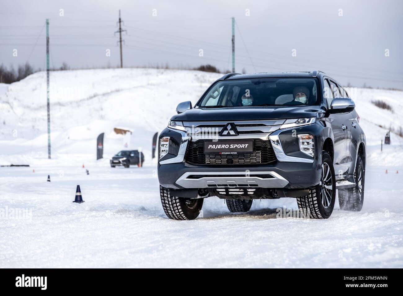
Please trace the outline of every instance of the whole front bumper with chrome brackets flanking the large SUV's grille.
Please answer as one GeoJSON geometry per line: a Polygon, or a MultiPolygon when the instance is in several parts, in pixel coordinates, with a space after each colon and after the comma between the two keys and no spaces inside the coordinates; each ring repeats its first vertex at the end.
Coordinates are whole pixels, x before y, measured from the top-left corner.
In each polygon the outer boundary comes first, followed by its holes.
{"type": "MultiPolygon", "coordinates": [[[[260,188],[286,188],[301,189],[315,186],[320,182],[319,156],[308,157],[300,151],[289,149],[295,143],[294,132],[310,133],[315,138],[315,150],[321,151],[322,128],[318,124],[311,124],[299,128],[276,130],[262,136],[270,139],[277,161],[269,164],[250,165],[192,165],[185,162],[185,151],[189,135],[179,130],[166,128],[160,137],[169,136],[172,147],[166,157],[158,163],[158,180],[166,188],[211,188],[221,186],[234,187],[260,187],[260,188]],[[269,138],[268,138],[269,137],[269,138]],[[283,146],[282,146],[283,143],[283,146]],[[286,144],[286,146],[285,146],[286,144]]],[[[235,138],[235,137],[234,137],[235,138]]],[[[226,138],[227,139],[227,138],[226,138]]],[[[256,139],[256,137],[250,137],[256,139]]]]}

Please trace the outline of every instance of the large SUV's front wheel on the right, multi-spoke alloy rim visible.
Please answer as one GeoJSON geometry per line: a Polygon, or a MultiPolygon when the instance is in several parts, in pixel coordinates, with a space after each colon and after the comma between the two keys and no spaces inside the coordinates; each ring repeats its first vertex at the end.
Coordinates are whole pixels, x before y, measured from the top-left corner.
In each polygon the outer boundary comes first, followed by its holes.
{"type": "Polygon", "coordinates": [[[298,208],[304,217],[327,219],[332,215],[336,199],[336,176],[330,155],[322,152],[322,173],[318,185],[309,190],[309,195],[297,197],[298,208]]]}

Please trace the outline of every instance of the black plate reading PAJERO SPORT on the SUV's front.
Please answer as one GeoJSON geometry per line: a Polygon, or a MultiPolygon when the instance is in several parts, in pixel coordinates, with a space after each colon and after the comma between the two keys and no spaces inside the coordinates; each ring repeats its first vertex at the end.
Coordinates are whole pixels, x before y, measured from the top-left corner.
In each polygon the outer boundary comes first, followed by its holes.
{"type": "Polygon", "coordinates": [[[204,154],[245,154],[253,152],[253,141],[204,141],[204,154]]]}

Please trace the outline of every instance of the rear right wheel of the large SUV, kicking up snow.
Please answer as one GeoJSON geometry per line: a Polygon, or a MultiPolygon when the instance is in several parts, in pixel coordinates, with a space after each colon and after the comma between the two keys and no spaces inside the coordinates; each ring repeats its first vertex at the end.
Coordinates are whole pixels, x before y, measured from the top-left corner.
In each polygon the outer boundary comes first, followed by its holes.
{"type": "Polygon", "coordinates": [[[359,212],[364,203],[365,170],[361,157],[357,157],[354,172],[355,187],[339,189],[339,205],[341,210],[359,212]]]}

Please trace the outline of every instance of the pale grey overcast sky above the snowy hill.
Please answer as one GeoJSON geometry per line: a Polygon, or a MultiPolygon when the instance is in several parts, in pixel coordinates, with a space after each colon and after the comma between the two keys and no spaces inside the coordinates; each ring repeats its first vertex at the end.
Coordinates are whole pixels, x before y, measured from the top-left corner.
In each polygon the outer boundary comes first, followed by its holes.
{"type": "Polygon", "coordinates": [[[403,89],[401,0],[0,0],[0,7],[0,64],[15,68],[27,61],[46,68],[46,18],[51,67],[119,65],[120,9],[125,67],[231,70],[235,17],[237,72],[318,69],[345,85],[403,89]]]}

